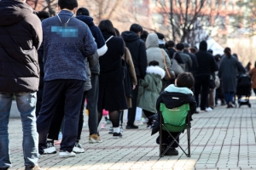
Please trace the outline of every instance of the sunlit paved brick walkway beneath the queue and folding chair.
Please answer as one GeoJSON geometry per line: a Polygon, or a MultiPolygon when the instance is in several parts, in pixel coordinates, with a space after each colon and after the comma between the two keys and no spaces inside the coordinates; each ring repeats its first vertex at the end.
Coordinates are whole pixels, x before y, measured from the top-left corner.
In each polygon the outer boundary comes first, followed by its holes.
{"type": "MultiPolygon", "coordinates": [[[[247,170],[256,169],[256,100],[236,109],[218,106],[214,111],[193,116],[191,130],[191,153],[186,157],[159,157],[157,135],[151,136],[146,125],[138,130],[125,130],[123,139],[112,139],[108,130],[101,131],[101,144],[88,143],[88,128],[84,128],[81,144],[85,153],[73,158],[61,159],[58,154],[43,155],[39,165],[43,169],[175,169],[175,170],[247,170]]],[[[22,157],[21,123],[19,119],[9,122],[9,139],[13,167],[24,169],[22,157]]],[[[186,135],[180,143],[186,148],[186,135]]]]}

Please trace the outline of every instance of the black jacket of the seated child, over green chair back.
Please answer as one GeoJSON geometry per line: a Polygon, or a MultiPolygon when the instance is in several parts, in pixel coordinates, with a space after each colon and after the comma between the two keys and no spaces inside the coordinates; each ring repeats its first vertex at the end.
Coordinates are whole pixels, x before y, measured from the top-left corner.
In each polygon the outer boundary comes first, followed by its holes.
{"type": "Polygon", "coordinates": [[[157,121],[154,122],[151,135],[157,133],[160,130],[160,103],[164,103],[167,108],[172,109],[184,104],[189,104],[190,108],[190,121],[192,121],[192,115],[196,111],[195,97],[192,94],[181,94],[177,92],[166,92],[160,94],[160,97],[156,101],[156,110],[158,113],[157,121]],[[173,99],[175,97],[176,99],[173,99]],[[178,98],[178,99],[177,99],[178,98]]]}

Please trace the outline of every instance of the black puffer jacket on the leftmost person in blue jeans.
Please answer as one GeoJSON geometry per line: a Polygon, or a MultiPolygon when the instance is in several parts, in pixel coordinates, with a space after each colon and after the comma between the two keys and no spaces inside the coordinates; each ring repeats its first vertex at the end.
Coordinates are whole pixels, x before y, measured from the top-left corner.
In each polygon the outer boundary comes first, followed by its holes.
{"type": "Polygon", "coordinates": [[[0,14],[0,92],[38,91],[41,21],[18,0],[2,0],[0,14]]]}

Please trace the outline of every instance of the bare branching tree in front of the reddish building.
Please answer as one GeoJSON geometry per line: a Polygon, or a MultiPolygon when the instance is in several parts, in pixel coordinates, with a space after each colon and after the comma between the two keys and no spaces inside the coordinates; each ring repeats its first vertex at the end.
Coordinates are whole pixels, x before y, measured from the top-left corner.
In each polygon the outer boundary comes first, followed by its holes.
{"type": "Polygon", "coordinates": [[[189,42],[195,45],[201,40],[207,40],[214,26],[217,26],[219,11],[218,8],[213,8],[215,4],[212,1],[159,0],[159,3],[162,14],[167,15],[174,42],[189,42]]]}

